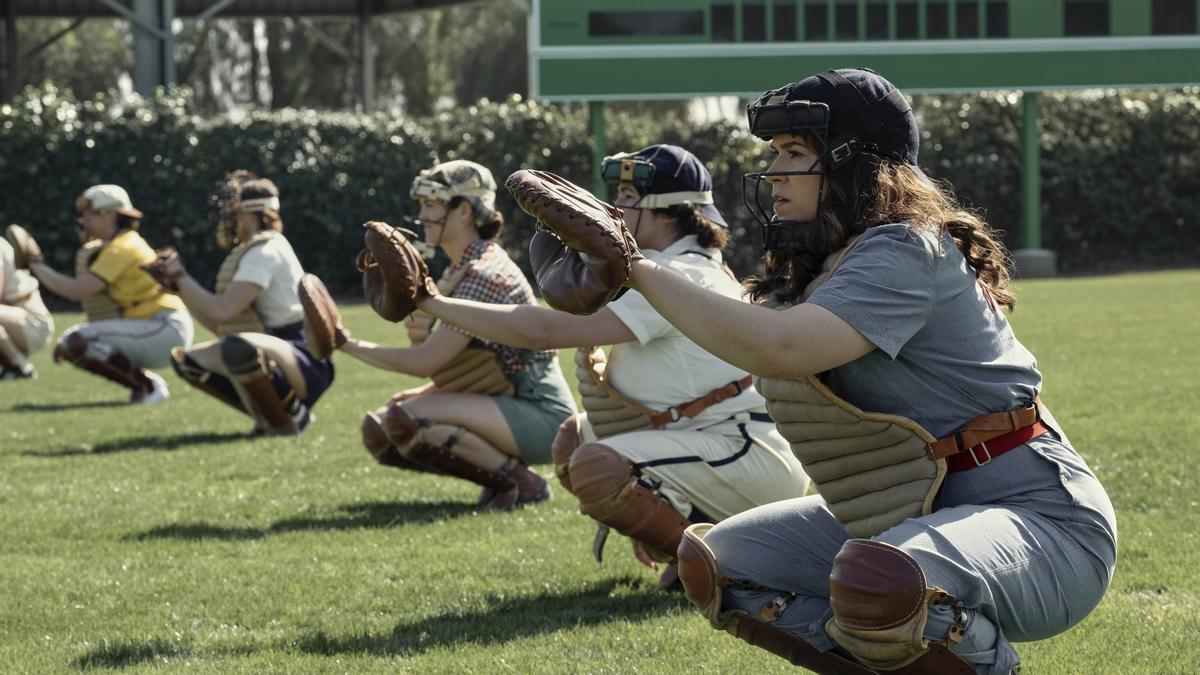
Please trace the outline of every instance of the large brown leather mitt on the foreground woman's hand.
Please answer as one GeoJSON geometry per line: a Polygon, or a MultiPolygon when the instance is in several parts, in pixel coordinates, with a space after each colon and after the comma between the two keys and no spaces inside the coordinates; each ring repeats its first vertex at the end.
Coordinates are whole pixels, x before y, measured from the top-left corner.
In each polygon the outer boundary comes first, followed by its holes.
{"type": "Polygon", "coordinates": [[[545,171],[521,169],[504,186],[538,219],[529,262],[550,306],[588,315],[624,292],[642,253],[619,209],[545,171]]]}

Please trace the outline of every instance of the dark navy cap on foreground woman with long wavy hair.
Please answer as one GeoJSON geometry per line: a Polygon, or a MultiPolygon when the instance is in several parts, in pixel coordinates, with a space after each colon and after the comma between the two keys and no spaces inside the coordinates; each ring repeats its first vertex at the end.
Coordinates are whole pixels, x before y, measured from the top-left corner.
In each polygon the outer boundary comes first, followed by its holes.
{"type": "Polygon", "coordinates": [[[835,161],[865,151],[917,166],[920,136],[912,106],[868,68],[828,70],[767,91],[746,106],[746,118],[750,132],[763,141],[826,127],[835,161]],[[845,157],[839,156],[842,145],[850,151],[845,157]]]}

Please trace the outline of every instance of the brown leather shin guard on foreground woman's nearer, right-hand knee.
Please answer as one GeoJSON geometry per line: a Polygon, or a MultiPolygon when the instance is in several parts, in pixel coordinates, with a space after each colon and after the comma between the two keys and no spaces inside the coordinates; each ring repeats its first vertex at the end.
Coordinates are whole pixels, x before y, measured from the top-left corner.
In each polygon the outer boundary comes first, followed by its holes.
{"type": "MultiPolygon", "coordinates": [[[[923,635],[931,602],[949,596],[925,585],[920,565],[905,551],[871,539],[850,539],[833,561],[826,632],[846,651],[876,670],[970,675],[974,669],[923,635]],[[935,647],[935,649],[931,649],[935,647]]],[[[952,626],[947,643],[961,640],[952,626]]]]}

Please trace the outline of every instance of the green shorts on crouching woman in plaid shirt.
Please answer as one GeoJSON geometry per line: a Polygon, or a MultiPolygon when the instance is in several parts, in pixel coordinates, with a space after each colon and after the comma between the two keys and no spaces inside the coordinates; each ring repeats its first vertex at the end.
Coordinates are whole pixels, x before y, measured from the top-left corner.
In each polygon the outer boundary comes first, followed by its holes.
{"type": "Polygon", "coordinates": [[[558,426],[576,412],[558,358],[518,372],[514,384],[516,395],[493,396],[496,405],[512,431],[521,459],[526,464],[548,464],[558,426]]]}

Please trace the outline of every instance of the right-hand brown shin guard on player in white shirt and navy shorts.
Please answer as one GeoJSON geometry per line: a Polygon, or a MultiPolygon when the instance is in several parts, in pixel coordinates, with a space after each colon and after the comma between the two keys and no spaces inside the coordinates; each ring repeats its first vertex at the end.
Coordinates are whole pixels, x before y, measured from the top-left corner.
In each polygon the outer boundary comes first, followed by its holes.
{"type": "Polygon", "coordinates": [[[304,412],[302,404],[278,366],[258,347],[236,335],[227,335],[221,339],[221,360],[242,407],[259,428],[275,436],[301,431],[301,420],[295,418],[304,412]]]}

